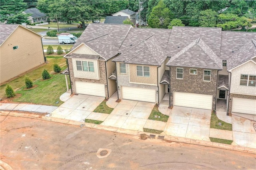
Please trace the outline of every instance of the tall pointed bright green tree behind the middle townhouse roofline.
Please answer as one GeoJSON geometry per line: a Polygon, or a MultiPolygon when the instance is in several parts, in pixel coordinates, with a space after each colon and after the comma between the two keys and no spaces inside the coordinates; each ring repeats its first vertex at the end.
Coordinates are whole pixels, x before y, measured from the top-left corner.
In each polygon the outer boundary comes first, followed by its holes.
{"type": "Polygon", "coordinates": [[[152,9],[148,18],[148,25],[151,28],[167,28],[170,24],[172,13],[162,0],[152,9]]]}

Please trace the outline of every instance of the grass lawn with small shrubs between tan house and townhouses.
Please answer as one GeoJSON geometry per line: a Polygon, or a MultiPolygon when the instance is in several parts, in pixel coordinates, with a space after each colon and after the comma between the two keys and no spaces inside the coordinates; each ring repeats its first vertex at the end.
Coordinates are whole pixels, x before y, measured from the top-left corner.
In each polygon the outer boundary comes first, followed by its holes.
{"type": "MultiPolygon", "coordinates": [[[[60,95],[66,91],[65,76],[53,71],[54,64],[60,65],[61,69],[66,69],[66,59],[62,56],[49,56],[47,63],[41,67],[29,71],[23,76],[10,81],[8,84],[16,90],[15,93],[22,94],[21,97],[15,98],[13,101],[21,103],[34,103],[42,105],[59,106],[60,95]],[[52,76],[51,79],[42,80],[42,71],[46,69],[52,76]],[[29,77],[33,81],[33,85],[37,86],[32,89],[25,89],[25,77],[29,77]],[[59,103],[56,103],[59,101],[59,103]]],[[[1,97],[5,97],[6,84],[0,86],[1,97]]]]}

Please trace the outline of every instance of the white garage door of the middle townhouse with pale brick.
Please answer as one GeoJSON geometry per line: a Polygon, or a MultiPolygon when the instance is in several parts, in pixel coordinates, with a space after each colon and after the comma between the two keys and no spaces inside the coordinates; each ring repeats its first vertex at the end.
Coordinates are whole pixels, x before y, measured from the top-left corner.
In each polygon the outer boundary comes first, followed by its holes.
{"type": "Polygon", "coordinates": [[[156,90],[122,86],[122,99],[156,103],[156,90]]]}

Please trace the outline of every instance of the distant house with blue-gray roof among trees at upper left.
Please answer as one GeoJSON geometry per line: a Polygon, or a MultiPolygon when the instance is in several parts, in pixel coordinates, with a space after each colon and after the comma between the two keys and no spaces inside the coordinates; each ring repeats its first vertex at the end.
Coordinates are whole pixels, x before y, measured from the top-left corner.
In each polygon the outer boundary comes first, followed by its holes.
{"type": "Polygon", "coordinates": [[[30,23],[35,24],[40,22],[47,22],[46,20],[46,14],[40,12],[37,8],[29,8],[22,12],[23,14],[31,14],[31,16],[28,17],[28,20],[30,23]]]}

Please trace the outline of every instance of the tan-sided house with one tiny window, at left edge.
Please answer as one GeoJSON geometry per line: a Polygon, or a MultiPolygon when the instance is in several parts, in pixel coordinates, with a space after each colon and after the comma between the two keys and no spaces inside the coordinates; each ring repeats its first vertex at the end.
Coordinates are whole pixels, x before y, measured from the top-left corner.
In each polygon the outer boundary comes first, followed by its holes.
{"type": "Polygon", "coordinates": [[[42,36],[18,24],[0,24],[0,84],[46,61],[42,36]]]}

